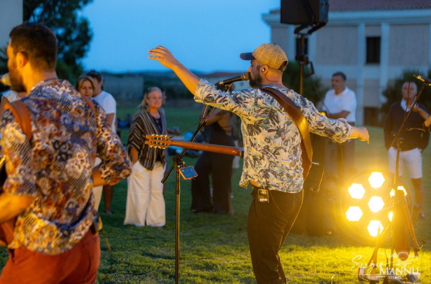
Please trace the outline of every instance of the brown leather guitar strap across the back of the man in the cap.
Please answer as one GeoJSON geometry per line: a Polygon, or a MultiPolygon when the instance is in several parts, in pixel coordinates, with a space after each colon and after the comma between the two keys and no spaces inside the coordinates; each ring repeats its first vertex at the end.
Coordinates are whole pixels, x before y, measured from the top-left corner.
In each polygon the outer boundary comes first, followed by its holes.
{"type": "Polygon", "coordinates": [[[308,130],[307,120],[298,107],[288,96],[284,95],[277,89],[271,87],[260,88],[261,91],[275,98],[278,103],[284,108],[284,111],[289,114],[292,120],[301,133],[301,149],[302,149],[302,167],[304,168],[304,180],[308,175],[313,158],[313,147],[311,146],[310,131],[308,130]]]}

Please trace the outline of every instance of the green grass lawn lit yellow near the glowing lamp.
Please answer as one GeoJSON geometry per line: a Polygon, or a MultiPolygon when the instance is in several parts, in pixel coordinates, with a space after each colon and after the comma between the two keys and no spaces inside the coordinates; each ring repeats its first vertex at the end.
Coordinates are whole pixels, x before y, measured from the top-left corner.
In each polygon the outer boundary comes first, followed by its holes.
{"type": "MultiPolygon", "coordinates": [[[[134,113],[136,109],[119,109],[119,117],[134,113]]],[[[182,130],[198,120],[199,110],[166,109],[169,126],[182,130]]],[[[194,131],[193,126],[191,131],[194,131]]],[[[387,169],[386,152],[381,128],[369,127],[370,145],[356,143],[355,167],[360,170],[387,169]]],[[[125,142],[127,131],[123,130],[125,142]]],[[[423,154],[426,202],[431,198],[429,147],[423,154]]],[[[196,159],[186,157],[186,165],[196,159]]],[[[181,182],[181,261],[180,283],[255,283],[247,243],[247,213],[250,190],[238,186],[240,169],[234,171],[232,204],[233,216],[193,214],[190,211],[190,181],[181,182]]],[[[112,258],[101,235],[101,264],[98,283],[173,283],[175,259],[175,175],[166,184],[166,226],[135,228],[123,226],[127,184],[122,181],[115,187],[113,215],[102,214],[104,230],[112,246],[112,258]]],[[[408,176],[403,177],[408,181],[408,176]]],[[[409,183],[407,183],[409,184],[409,183]]],[[[100,205],[103,208],[103,202],[100,205]]],[[[425,215],[431,217],[430,207],[425,215]]],[[[417,238],[431,238],[429,219],[416,223],[417,238]]],[[[280,258],[289,283],[357,283],[358,265],[365,265],[373,247],[353,243],[337,231],[329,236],[315,237],[291,234],[280,250],[280,258]]],[[[381,248],[378,262],[385,263],[389,248],[381,248]]],[[[419,258],[409,258],[400,266],[414,268],[421,273],[421,283],[431,283],[431,257],[425,244],[419,258]]],[[[0,262],[7,259],[5,248],[0,251],[0,262]]],[[[394,259],[398,262],[398,259],[394,259]]]]}

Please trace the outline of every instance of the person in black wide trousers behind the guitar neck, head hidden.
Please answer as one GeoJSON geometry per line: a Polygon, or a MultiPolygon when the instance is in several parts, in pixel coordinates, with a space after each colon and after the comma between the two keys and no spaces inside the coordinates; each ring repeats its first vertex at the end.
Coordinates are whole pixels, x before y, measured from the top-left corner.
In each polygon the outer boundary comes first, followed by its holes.
{"type": "MultiPolygon", "coordinates": [[[[235,146],[232,137],[232,114],[215,111],[206,124],[210,127],[208,143],[235,146]]],[[[233,214],[230,201],[233,156],[203,152],[195,164],[198,173],[192,180],[193,212],[212,211],[217,214],[233,214]],[[209,190],[209,175],[212,181],[212,204],[209,190]]]]}

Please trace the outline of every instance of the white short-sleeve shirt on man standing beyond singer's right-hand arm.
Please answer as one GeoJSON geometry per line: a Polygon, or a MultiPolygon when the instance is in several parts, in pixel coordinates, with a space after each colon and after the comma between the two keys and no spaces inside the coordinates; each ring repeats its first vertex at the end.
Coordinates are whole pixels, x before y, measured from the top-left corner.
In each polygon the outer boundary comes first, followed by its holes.
{"type": "Polygon", "coordinates": [[[325,95],[324,110],[331,114],[338,114],[342,111],[350,112],[347,122],[356,122],[356,95],[349,88],[345,88],[341,94],[336,94],[335,90],[329,90],[325,95]]]}

